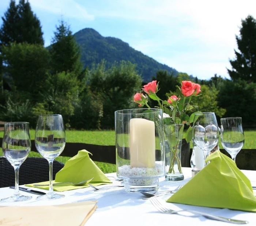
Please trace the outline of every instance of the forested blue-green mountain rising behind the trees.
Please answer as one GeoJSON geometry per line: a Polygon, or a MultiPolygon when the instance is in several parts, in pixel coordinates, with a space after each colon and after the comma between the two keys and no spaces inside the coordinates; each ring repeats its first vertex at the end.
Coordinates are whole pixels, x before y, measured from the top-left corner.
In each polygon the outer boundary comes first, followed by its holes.
{"type": "Polygon", "coordinates": [[[105,59],[111,66],[114,61],[130,61],[137,65],[136,69],[142,75],[144,82],[151,81],[152,76],[159,70],[166,70],[173,75],[178,71],[172,67],[155,61],[153,58],[144,55],[129,46],[121,39],[113,37],[103,37],[92,28],[84,28],[74,34],[76,41],[81,46],[81,60],[85,67],[91,68],[93,63],[100,63],[105,59]]]}

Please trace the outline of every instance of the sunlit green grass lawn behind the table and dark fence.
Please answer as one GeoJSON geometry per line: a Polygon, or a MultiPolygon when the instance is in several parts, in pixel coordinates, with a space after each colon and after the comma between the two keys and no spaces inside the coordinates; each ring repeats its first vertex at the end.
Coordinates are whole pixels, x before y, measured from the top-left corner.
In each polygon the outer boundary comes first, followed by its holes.
{"type": "MultiPolygon", "coordinates": [[[[256,149],[256,131],[245,130],[245,143],[243,149],[256,149]]],[[[0,137],[3,137],[4,132],[0,132],[0,137]]],[[[35,130],[30,130],[31,140],[35,139],[35,130]]],[[[67,130],[66,141],[68,143],[86,143],[86,144],[98,144],[98,145],[115,145],[115,132],[113,130],[107,131],[80,131],[80,130],[67,130]]],[[[190,144],[192,148],[192,143],[190,144]]],[[[223,148],[221,142],[219,142],[220,148],[223,148]]],[[[77,150],[79,151],[79,150],[77,150]]],[[[90,150],[87,150],[90,151],[90,150]]],[[[0,148],[0,156],[3,155],[3,151],[0,148]]],[[[29,157],[42,157],[37,152],[30,152],[29,157]]],[[[65,163],[70,157],[59,156],[56,158],[57,161],[65,163]]],[[[109,163],[95,162],[98,167],[104,172],[116,172],[116,165],[109,163]]]]}

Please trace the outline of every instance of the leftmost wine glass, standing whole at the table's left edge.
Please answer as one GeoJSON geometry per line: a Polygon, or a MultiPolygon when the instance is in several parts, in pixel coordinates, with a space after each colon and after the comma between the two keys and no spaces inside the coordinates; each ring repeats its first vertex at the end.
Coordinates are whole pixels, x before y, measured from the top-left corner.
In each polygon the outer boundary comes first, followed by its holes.
{"type": "Polygon", "coordinates": [[[1,199],[0,202],[20,202],[31,199],[31,196],[21,195],[19,192],[19,168],[31,150],[29,122],[5,123],[2,148],[5,158],[14,167],[15,191],[11,197],[1,199]]]}

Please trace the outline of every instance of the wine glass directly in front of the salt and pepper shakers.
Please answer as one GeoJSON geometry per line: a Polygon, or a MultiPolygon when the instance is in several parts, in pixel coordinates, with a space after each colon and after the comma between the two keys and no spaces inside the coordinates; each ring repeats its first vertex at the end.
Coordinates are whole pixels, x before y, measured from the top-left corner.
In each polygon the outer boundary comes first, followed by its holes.
{"type": "Polygon", "coordinates": [[[216,146],[218,138],[218,123],[214,112],[196,113],[193,122],[193,140],[196,146],[203,151],[204,159],[216,146]]]}

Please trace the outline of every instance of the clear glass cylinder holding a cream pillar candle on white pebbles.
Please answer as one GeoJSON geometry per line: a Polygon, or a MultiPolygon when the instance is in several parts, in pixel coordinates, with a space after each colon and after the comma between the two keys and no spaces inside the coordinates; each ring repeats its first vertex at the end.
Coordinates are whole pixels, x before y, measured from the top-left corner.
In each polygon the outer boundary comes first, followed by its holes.
{"type": "Polygon", "coordinates": [[[165,175],[161,109],[115,112],[117,177],[126,191],[154,191],[165,175]]]}

